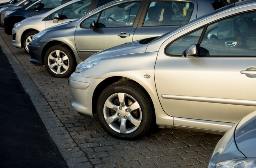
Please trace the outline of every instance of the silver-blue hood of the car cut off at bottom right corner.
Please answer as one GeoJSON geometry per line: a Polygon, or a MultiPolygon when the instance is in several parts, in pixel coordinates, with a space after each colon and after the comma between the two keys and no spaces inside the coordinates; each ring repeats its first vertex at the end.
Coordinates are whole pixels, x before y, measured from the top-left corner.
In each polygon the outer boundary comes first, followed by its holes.
{"type": "Polygon", "coordinates": [[[246,157],[256,157],[256,111],[239,122],[235,139],[240,152],[246,157]]]}

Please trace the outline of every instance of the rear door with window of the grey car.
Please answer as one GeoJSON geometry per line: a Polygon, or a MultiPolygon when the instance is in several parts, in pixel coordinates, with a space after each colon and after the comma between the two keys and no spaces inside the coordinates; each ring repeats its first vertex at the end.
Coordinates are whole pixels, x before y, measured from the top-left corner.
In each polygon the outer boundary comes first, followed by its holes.
{"type": "Polygon", "coordinates": [[[196,1],[147,1],[133,41],[165,34],[195,19],[196,14],[196,1]]]}

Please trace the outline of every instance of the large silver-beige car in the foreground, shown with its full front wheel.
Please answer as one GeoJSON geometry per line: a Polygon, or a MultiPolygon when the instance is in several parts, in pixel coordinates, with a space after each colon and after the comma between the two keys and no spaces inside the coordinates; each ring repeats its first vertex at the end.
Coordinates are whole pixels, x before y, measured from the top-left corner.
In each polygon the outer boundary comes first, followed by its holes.
{"type": "MultiPolygon", "coordinates": [[[[155,123],[227,131],[256,110],[255,9],[256,1],[228,5],[87,58],[69,78],[73,109],[97,113],[118,138],[142,136],[155,123]]],[[[55,53],[48,59],[67,59],[55,53]]]]}

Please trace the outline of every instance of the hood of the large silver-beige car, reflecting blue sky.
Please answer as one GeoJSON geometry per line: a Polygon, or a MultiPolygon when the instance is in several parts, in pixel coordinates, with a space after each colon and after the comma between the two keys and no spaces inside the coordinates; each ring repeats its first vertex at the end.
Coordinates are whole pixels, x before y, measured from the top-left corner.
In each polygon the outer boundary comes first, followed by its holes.
{"type": "Polygon", "coordinates": [[[146,51],[146,48],[147,44],[140,44],[139,41],[133,41],[102,50],[90,56],[85,61],[90,61],[98,58],[110,58],[127,54],[144,53],[146,51]]]}

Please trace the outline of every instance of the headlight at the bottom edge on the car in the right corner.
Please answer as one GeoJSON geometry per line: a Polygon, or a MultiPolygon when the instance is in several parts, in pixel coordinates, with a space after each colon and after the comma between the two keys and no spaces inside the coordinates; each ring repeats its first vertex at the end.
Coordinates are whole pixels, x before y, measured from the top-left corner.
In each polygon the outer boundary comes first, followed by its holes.
{"type": "Polygon", "coordinates": [[[256,158],[241,158],[219,162],[215,168],[253,168],[256,167],[256,158]]]}

